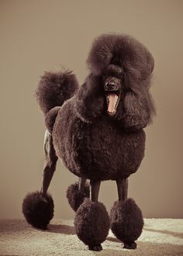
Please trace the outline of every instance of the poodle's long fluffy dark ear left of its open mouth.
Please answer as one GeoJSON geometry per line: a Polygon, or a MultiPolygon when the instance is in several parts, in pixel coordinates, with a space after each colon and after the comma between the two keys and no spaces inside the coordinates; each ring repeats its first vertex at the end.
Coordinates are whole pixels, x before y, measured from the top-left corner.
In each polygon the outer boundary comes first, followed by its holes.
{"type": "Polygon", "coordinates": [[[103,90],[101,77],[88,75],[78,91],[76,100],[76,111],[81,118],[90,122],[102,114],[105,104],[103,90]]]}

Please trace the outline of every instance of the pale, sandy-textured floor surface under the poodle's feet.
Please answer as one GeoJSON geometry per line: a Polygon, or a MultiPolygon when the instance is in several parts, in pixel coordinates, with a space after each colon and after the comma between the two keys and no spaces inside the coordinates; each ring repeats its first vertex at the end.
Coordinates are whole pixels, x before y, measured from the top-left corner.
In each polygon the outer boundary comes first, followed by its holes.
{"type": "Polygon", "coordinates": [[[136,250],[123,249],[112,232],[100,252],[88,251],[78,239],[72,220],[52,220],[48,230],[36,230],[26,220],[0,220],[0,255],[183,255],[183,220],[144,219],[136,250]]]}

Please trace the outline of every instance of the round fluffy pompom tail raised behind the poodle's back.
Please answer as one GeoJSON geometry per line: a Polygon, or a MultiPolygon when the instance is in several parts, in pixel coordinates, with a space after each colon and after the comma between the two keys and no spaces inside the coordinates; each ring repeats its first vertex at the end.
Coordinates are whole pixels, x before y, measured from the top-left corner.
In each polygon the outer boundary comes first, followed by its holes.
{"type": "Polygon", "coordinates": [[[46,116],[50,109],[62,106],[78,90],[78,81],[72,71],[45,72],[36,88],[36,99],[46,116]]]}

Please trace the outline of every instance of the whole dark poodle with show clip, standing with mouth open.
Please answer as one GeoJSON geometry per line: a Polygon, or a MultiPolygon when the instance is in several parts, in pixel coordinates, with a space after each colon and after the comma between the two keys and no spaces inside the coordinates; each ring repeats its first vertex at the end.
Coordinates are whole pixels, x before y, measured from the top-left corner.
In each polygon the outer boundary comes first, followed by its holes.
{"type": "Polygon", "coordinates": [[[46,72],[36,89],[45,116],[43,185],[26,195],[22,213],[33,227],[47,229],[54,201],[47,193],[60,158],[78,176],[67,189],[78,238],[89,250],[101,251],[109,233],[136,248],[143,215],[128,198],[128,178],[140,167],[145,149],[143,128],[155,114],[150,95],[154,58],[132,36],[98,36],[88,54],[89,74],[81,87],[71,71],[46,72]],[[87,179],[90,180],[88,185],[87,179]],[[98,202],[100,184],[116,181],[118,200],[108,214],[98,202]]]}

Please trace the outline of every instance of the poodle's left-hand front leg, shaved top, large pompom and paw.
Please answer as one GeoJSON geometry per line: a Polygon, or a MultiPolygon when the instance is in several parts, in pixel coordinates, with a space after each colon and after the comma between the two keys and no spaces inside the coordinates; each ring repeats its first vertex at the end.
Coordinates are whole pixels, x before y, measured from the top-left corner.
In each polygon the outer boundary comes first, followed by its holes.
{"type": "Polygon", "coordinates": [[[101,251],[101,244],[109,233],[109,215],[102,202],[98,202],[100,183],[91,180],[91,199],[84,200],[74,219],[78,238],[88,245],[91,251],[101,251]]]}

